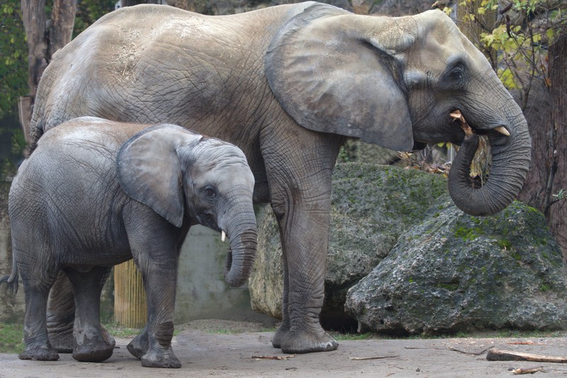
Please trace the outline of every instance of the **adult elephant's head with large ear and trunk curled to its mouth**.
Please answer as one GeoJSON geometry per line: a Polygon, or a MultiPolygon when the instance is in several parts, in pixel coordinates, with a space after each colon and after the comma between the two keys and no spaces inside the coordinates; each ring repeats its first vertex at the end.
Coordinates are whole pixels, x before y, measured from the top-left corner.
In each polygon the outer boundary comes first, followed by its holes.
{"type": "Polygon", "coordinates": [[[496,213],[522,188],[531,149],[522,111],[441,11],[389,18],[316,4],[277,33],[265,69],[299,125],[389,149],[461,144],[464,132],[449,115],[460,110],[474,133],[488,136],[493,155],[490,178],[479,189],[469,180],[476,144],[466,143],[455,161],[449,193],[469,214],[496,213]]]}

